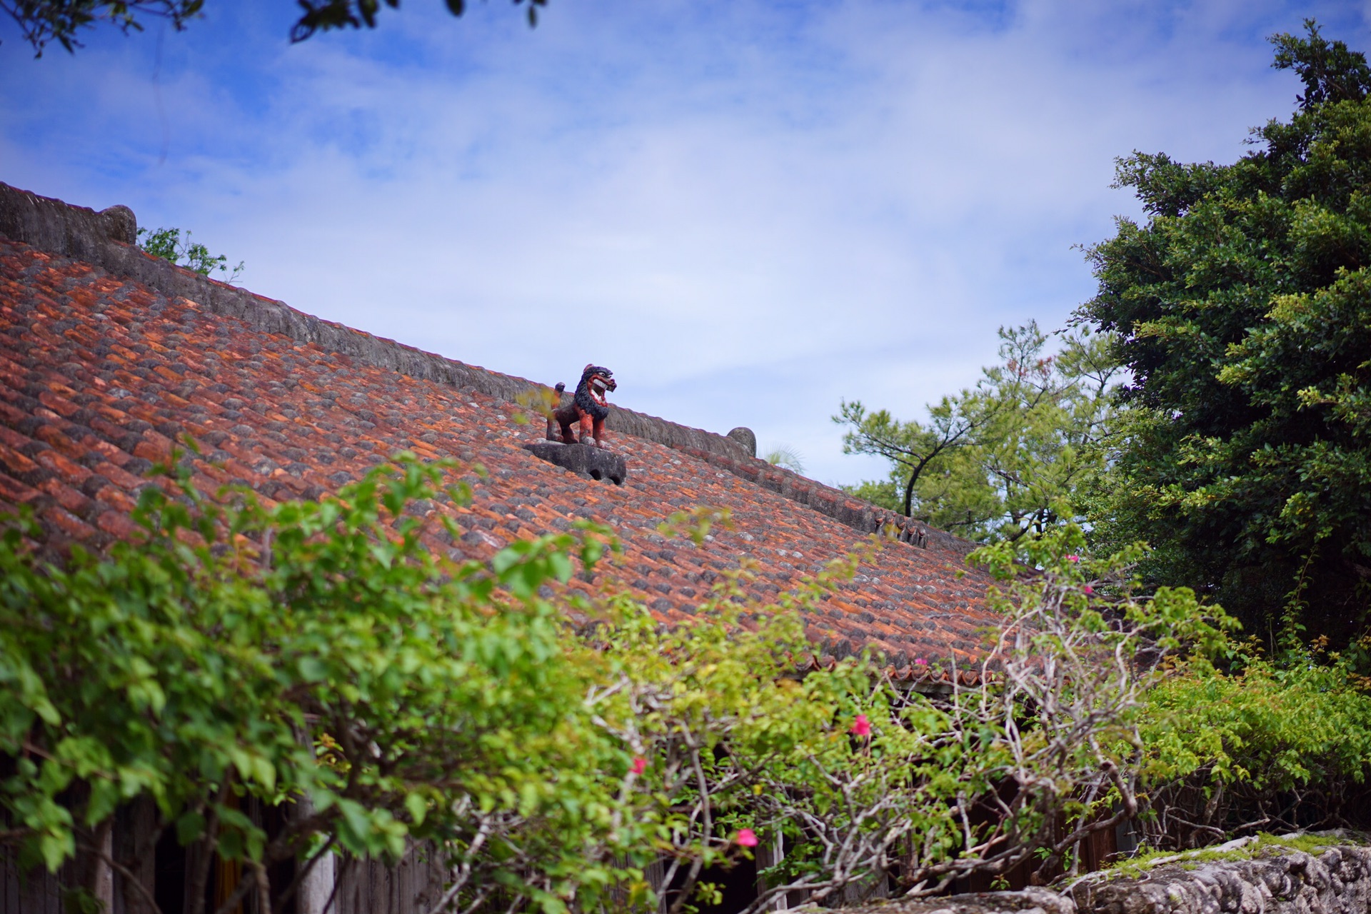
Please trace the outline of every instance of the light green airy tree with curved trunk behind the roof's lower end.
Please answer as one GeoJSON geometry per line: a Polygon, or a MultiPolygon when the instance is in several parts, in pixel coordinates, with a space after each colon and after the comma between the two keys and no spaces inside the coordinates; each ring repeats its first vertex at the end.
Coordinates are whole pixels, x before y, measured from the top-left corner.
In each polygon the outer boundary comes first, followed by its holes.
{"type": "Polygon", "coordinates": [[[851,491],[976,540],[1019,539],[1080,519],[1102,473],[1119,367],[1101,334],[1067,334],[1056,352],[1028,323],[999,330],[1001,362],[928,408],[928,422],[843,403],[847,454],[877,454],[890,478],[851,491]]]}

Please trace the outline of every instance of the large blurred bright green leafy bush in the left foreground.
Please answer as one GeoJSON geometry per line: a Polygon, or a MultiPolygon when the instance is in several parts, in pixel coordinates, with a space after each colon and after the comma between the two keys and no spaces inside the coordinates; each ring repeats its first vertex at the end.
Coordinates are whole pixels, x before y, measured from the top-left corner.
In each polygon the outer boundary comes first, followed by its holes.
{"type": "Polygon", "coordinates": [[[22,862],[97,852],[115,808],[151,798],[159,826],[200,851],[192,885],[215,855],[244,865],[241,893],[276,861],[393,861],[430,839],[458,867],[466,848],[487,893],[594,887],[581,844],[613,804],[602,771],[620,754],[584,726],[588,654],[536,591],[602,547],[557,536],[489,570],[446,562],[407,512],[465,497],[437,488],[443,471],[404,459],[337,499],[271,507],[148,485],[138,541],[63,567],[11,526],[0,808],[22,862]],[[289,811],[280,835],[240,811],[245,796],[289,811]],[[539,866],[522,878],[500,866],[524,858],[539,866]]]}

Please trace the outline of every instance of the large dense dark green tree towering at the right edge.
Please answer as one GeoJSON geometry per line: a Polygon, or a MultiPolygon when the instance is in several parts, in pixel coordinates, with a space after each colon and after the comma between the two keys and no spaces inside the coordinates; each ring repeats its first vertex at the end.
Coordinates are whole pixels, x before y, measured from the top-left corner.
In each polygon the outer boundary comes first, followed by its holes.
{"type": "Polygon", "coordinates": [[[1132,373],[1097,529],[1272,641],[1302,615],[1345,643],[1371,596],[1371,69],[1305,25],[1272,37],[1304,93],[1252,152],[1119,162],[1148,218],[1090,251],[1080,315],[1132,373]]]}

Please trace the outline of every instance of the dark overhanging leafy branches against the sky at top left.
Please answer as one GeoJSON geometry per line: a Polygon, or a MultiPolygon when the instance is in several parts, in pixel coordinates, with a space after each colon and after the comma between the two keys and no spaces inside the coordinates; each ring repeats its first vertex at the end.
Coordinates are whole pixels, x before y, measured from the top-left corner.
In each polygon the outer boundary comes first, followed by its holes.
{"type": "MultiPolygon", "coordinates": [[[[525,0],[513,0],[524,5],[525,0]]],[[[315,32],[330,29],[374,29],[376,14],[383,4],[399,8],[400,0],[298,0],[300,18],[291,26],[291,41],[304,41],[315,32]]],[[[466,10],[465,0],[443,0],[454,16],[466,10]]],[[[529,26],[537,25],[539,7],[547,0],[526,0],[529,26]]],[[[125,33],[143,32],[143,19],[170,22],[180,32],[186,23],[203,15],[204,0],[0,0],[0,11],[10,14],[23,33],[36,56],[49,41],[56,41],[69,52],[81,47],[77,36],[82,29],[100,22],[118,26],[125,33]],[[141,16],[141,18],[140,18],[141,16]]]]}

